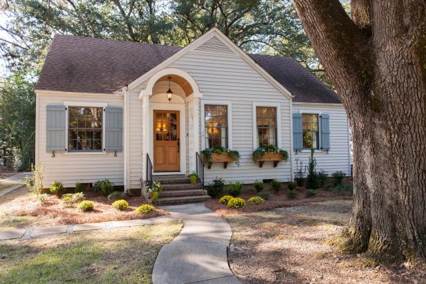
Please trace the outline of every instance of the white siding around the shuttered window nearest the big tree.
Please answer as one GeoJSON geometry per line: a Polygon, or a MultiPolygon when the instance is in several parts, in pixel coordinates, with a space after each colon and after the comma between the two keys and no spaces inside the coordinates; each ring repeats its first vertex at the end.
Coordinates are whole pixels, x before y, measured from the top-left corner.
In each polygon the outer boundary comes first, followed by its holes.
{"type": "MultiPolygon", "coordinates": [[[[333,104],[300,104],[293,103],[293,113],[326,113],[330,115],[330,151],[315,151],[317,160],[317,171],[324,170],[330,175],[335,171],[344,171],[350,174],[349,165],[349,129],[346,111],[343,106],[333,104]]],[[[294,155],[294,159],[302,161],[304,166],[308,165],[310,150],[304,150],[294,155]]],[[[294,163],[296,168],[296,163],[294,163]]],[[[296,171],[296,169],[295,169],[296,171]]]]}

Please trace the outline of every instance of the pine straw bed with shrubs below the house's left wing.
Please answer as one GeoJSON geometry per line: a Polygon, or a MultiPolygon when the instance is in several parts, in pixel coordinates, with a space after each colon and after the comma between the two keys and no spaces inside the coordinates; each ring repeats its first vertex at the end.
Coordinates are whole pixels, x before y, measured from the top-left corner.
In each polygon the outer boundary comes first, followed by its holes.
{"type": "MultiPolygon", "coordinates": [[[[59,198],[49,196],[44,204],[41,204],[36,196],[27,193],[27,189],[24,187],[18,190],[20,192],[15,193],[15,196],[10,196],[6,200],[0,200],[0,215],[5,216],[6,220],[14,218],[19,220],[22,217],[29,217],[31,220],[30,225],[32,226],[98,223],[169,215],[163,209],[156,209],[150,214],[137,214],[135,209],[147,203],[140,196],[124,198],[124,200],[129,202],[129,209],[118,211],[111,207],[112,202],[107,198],[95,196],[91,191],[85,191],[85,200],[91,200],[95,206],[93,211],[83,212],[77,209],[78,203],[73,205],[73,207],[65,207],[59,198]]],[[[28,227],[28,222],[21,224],[18,221],[14,227],[28,227]]]]}

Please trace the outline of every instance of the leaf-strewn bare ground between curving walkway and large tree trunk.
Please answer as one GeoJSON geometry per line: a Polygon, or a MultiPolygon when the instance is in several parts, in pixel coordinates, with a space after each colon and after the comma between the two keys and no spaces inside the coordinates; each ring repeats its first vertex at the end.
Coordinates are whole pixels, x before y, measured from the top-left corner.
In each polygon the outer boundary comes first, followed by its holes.
{"type": "Polygon", "coordinates": [[[364,254],[343,254],[330,245],[351,208],[351,200],[329,200],[225,214],[233,233],[232,272],[243,283],[426,283],[425,270],[406,263],[379,266],[364,254]]]}

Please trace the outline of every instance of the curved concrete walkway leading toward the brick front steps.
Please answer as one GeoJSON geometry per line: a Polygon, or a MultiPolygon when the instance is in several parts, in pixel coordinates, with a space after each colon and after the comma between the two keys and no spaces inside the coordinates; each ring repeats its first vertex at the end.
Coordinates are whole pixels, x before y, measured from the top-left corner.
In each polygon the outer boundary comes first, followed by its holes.
{"type": "Polygon", "coordinates": [[[203,204],[162,207],[184,226],[172,243],[157,256],[152,273],[154,284],[240,283],[227,260],[230,225],[203,204]]]}

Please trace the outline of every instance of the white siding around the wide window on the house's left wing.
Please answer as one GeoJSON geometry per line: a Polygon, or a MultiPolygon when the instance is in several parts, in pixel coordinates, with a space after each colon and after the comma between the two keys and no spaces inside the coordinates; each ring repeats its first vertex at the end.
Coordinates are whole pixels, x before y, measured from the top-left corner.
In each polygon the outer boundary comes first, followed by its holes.
{"type": "MultiPolygon", "coordinates": [[[[46,151],[46,106],[64,104],[64,102],[107,103],[108,106],[124,105],[123,97],[118,95],[37,95],[37,140],[36,162],[45,167],[44,187],[50,187],[53,181],[59,181],[64,187],[74,187],[75,182],[95,182],[108,178],[116,185],[123,185],[123,153],[61,153],[55,158],[46,151]]],[[[68,146],[67,146],[68,148],[68,146]]]]}

